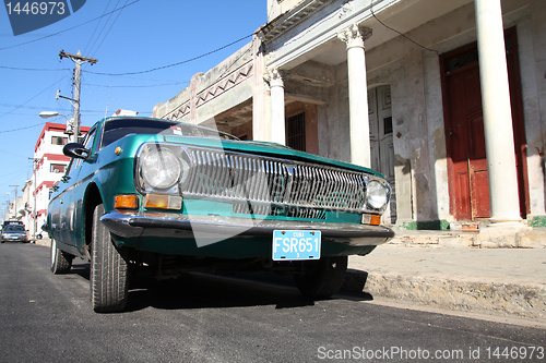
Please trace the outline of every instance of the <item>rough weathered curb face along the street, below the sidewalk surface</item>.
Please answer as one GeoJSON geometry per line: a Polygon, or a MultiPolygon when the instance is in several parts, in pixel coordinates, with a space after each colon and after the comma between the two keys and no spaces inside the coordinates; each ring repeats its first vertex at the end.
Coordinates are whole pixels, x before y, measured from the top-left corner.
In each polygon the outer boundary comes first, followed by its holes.
{"type": "Polygon", "coordinates": [[[343,291],[456,312],[537,318],[546,322],[546,289],[347,270],[343,291]]]}

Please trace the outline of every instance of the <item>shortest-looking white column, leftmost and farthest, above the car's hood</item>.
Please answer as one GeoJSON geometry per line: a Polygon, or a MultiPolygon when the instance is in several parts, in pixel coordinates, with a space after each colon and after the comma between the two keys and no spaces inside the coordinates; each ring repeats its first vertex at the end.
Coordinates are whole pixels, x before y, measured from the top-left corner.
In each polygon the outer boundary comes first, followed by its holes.
{"type": "Polygon", "coordinates": [[[271,89],[271,141],[286,145],[284,82],[281,71],[269,72],[266,81],[271,89]]]}

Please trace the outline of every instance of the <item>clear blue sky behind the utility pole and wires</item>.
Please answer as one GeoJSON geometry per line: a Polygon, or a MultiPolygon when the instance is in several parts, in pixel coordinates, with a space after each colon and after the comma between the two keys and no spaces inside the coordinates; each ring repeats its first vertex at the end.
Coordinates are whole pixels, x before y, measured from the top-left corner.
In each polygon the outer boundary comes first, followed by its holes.
{"type": "MultiPolygon", "coordinates": [[[[117,109],[151,116],[154,105],[182,90],[198,72],[206,72],[251,40],[248,37],[210,56],[185,62],[251,35],[266,22],[265,0],[87,0],[74,14],[49,26],[13,36],[7,9],[0,9],[0,216],[14,187],[32,176],[34,146],[46,120],[40,111],[72,114],[74,63],[59,59],[63,49],[98,59],[82,66],[82,125],[117,109]],[[133,3],[134,2],[134,3],[133,3]],[[132,3],[132,4],[131,4],[132,3]],[[126,7],[95,20],[115,9],[126,7]],[[59,33],[59,34],[57,34],[59,33]],[[55,35],[57,34],[57,35],[55,35]],[[10,195],[7,195],[10,193],[10,195]]],[[[57,117],[49,122],[66,123],[57,117]]]]}

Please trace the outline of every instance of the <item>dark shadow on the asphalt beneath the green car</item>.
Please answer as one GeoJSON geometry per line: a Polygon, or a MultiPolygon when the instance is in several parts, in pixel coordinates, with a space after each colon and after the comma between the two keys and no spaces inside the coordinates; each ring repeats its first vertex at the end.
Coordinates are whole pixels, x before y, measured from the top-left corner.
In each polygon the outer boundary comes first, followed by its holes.
{"type": "MultiPolygon", "coordinates": [[[[367,274],[348,271],[340,294],[332,299],[370,301],[363,292],[367,274]]],[[[74,264],[69,273],[90,279],[90,264],[74,264]]],[[[275,308],[313,306],[302,297],[290,277],[272,273],[211,275],[186,274],[177,279],[155,281],[132,277],[127,312],[155,307],[192,310],[274,305],[275,308]]]]}

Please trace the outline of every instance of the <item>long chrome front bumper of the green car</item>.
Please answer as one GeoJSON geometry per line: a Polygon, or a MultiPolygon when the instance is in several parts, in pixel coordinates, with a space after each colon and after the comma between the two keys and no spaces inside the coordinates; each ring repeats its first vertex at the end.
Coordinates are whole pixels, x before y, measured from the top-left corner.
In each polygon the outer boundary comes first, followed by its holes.
{"type": "Polygon", "coordinates": [[[305,222],[293,220],[251,219],[179,214],[120,213],[112,210],[100,218],[111,233],[121,238],[193,238],[193,230],[211,235],[237,238],[272,237],[274,230],[319,230],[322,241],[352,246],[378,245],[394,237],[383,226],[305,222]]]}

